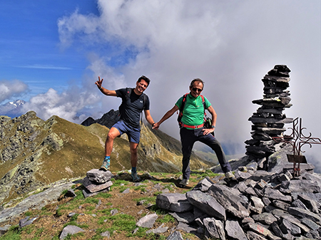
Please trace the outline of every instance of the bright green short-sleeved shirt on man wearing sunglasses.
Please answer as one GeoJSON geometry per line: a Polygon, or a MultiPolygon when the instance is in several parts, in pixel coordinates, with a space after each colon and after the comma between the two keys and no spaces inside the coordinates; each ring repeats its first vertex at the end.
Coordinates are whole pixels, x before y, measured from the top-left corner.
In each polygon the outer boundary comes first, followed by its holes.
{"type": "MultiPolygon", "coordinates": [[[[210,102],[207,98],[204,97],[205,101],[205,109],[210,107],[210,102]]],[[[178,108],[182,105],[183,97],[178,99],[175,103],[178,108]]],[[[183,117],[182,120],[183,124],[190,125],[190,126],[197,126],[201,125],[204,122],[204,108],[203,108],[203,101],[202,97],[198,96],[194,98],[193,95],[188,94],[186,96],[185,107],[183,109],[183,117]]],[[[186,127],[188,128],[188,127],[186,127]]],[[[191,128],[188,128],[191,129],[191,128]]]]}

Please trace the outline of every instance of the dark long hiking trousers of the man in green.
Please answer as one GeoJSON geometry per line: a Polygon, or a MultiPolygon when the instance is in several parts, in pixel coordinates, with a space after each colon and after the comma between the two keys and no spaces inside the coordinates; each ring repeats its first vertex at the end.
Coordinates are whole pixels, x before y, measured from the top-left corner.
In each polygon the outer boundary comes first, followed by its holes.
{"type": "Polygon", "coordinates": [[[230,172],[232,169],[230,163],[226,160],[225,153],[220,145],[220,142],[211,135],[203,135],[204,127],[200,127],[195,130],[189,130],[185,127],[180,128],[180,142],[182,142],[182,152],[183,152],[183,178],[190,178],[190,154],[192,153],[193,145],[195,142],[200,141],[205,145],[208,145],[218,157],[218,162],[223,172],[230,172]]]}

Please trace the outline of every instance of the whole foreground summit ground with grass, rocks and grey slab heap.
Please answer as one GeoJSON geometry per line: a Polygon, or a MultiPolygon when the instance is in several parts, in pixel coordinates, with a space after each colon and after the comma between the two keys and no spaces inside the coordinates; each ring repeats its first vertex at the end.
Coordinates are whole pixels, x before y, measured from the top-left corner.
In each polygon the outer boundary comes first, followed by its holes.
{"type": "Polygon", "coordinates": [[[321,239],[321,176],[302,164],[301,175],[292,177],[292,146],[277,147],[266,170],[243,159],[233,164],[238,181],[193,172],[185,189],[176,186],[179,174],[140,172],[142,182],[134,183],[126,172],[91,169],[83,179],[59,182],[2,210],[0,230],[12,233],[10,224],[19,222],[23,239],[41,224],[54,239],[321,239]],[[24,211],[35,213],[18,216],[24,211]]]}

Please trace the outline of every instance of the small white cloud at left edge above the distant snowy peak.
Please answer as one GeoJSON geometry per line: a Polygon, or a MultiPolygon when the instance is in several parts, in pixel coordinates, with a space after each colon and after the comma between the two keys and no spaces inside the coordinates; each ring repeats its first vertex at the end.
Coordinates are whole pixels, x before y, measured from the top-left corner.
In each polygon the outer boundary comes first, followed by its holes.
{"type": "Polygon", "coordinates": [[[0,103],[25,93],[28,90],[21,80],[0,80],[0,103]]]}

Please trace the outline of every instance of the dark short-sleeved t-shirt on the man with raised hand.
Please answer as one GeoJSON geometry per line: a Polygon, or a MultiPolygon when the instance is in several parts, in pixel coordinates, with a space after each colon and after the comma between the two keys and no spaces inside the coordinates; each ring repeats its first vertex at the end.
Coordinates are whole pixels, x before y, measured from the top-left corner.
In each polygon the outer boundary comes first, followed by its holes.
{"type": "Polygon", "coordinates": [[[121,106],[119,107],[121,120],[132,127],[141,128],[141,125],[139,124],[141,112],[143,110],[149,110],[149,98],[145,93],[137,95],[134,92],[134,88],[131,88],[131,95],[128,98],[126,96],[128,89],[129,88],[121,88],[116,90],[117,97],[122,99],[121,106]],[[145,106],[143,103],[143,95],[146,95],[145,106]]]}

